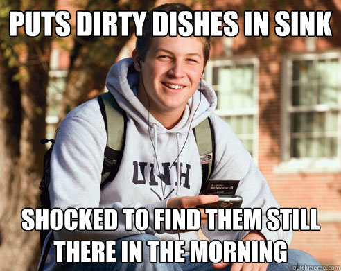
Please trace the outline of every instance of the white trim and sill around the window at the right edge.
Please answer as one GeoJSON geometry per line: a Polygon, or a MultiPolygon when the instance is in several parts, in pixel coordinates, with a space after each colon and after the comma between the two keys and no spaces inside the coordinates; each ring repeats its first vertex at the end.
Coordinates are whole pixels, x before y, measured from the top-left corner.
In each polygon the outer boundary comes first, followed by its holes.
{"type": "MultiPolygon", "coordinates": [[[[341,148],[338,148],[336,158],[290,158],[290,113],[291,113],[291,81],[292,62],[294,60],[313,60],[320,58],[338,58],[341,67],[341,51],[331,50],[318,53],[290,53],[283,56],[281,75],[281,163],[274,168],[274,173],[341,173],[341,148]]],[[[316,105],[314,109],[324,111],[327,106],[316,105]]],[[[303,107],[302,107],[303,108],[303,107]]],[[[341,91],[339,105],[341,108],[341,91]]],[[[303,108],[304,110],[304,108],[303,108]]],[[[338,139],[341,139],[341,116],[339,114],[338,139]]]]}

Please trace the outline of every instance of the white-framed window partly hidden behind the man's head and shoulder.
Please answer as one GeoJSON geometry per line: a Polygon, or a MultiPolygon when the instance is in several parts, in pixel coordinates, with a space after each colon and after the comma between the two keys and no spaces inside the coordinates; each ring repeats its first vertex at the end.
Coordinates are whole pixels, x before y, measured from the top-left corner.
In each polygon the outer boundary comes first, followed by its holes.
{"type": "Polygon", "coordinates": [[[227,121],[252,157],[257,156],[258,60],[211,60],[205,78],[218,96],[216,114],[227,121]]]}

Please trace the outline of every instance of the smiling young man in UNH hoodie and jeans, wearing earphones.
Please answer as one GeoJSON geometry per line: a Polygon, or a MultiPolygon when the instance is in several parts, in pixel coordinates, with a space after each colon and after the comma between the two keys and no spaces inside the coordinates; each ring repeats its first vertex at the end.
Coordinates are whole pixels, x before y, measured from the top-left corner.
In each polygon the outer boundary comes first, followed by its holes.
{"type": "MultiPolygon", "coordinates": [[[[155,10],[190,10],[166,4],[155,10]]],[[[71,111],[62,122],[51,157],[51,207],[115,208],[116,231],[58,231],[56,240],[143,241],[143,263],[55,263],[55,247],[49,249],[45,270],[292,270],[292,265],[318,265],[304,252],[288,251],[288,263],[150,263],[148,240],[198,240],[196,231],[173,234],[153,228],[155,208],[195,208],[216,202],[215,195],[198,195],[202,184],[200,156],[192,129],[208,116],[216,141],[212,179],[241,180],[237,194],[244,208],[261,208],[263,214],[279,204],[268,183],[254,165],[231,127],[213,114],[216,94],[202,80],[209,57],[207,37],[152,37],[152,13],[144,24],[144,36],[128,58],[114,64],[107,76],[107,89],[127,114],[125,146],[115,179],[100,189],[103,153],[107,142],[105,123],[96,99],[71,111]],[[126,231],[123,208],[145,208],[149,227],[126,231]]],[[[220,241],[272,240],[290,243],[291,231],[268,231],[263,216],[261,231],[208,231],[201,209],[202,231],[220,241]],[[205,225],[204,225],[205,224],[205,225]]]]}

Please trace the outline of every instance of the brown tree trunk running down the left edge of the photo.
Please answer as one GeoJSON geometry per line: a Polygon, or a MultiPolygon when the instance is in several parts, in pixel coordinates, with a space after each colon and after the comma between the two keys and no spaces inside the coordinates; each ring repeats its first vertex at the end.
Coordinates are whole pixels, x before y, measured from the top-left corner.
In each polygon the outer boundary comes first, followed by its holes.
{"type": "Polygon", "coordinates": [[[34,268],[37,233],[21,229],[21,209],[37,204],[42,175],[50,37],[8,36],[10,10],[53,10],[54,0],[0,1],[0,263],[34,268]]]}

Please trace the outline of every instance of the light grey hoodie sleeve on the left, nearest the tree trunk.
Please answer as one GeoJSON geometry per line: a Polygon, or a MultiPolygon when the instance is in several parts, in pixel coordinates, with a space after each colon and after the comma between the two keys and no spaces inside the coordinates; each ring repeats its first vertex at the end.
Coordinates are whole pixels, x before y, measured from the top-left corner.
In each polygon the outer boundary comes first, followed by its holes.
{"type": "MultiPolygon", "coordinates": [[[[99,119],[102,116],[98,116],[98,114],[91,116],[93,114],[91,110],[88,112],[89,116],[86,118],[84,114],[69,114],[62,121],[58,130],[58,137],[51,155],[51,184],[49,186],[51,208],[65,210],[67,208],[98,208],[100,206],[100,177],[107,137],[103,119],[99,119]]],[[[166,200],[149,204],[136,202],[130,206],[114,202],[112,206],[108,207],[116,209],[118,213],[118,228],[115,231],[67,231],[62,229],[55,231],[55,238],[59,240],[106,241],[141,233],[155,234],[156,231],[152,228],[154,225],[152,213],[155,208],[166,208],[166,200]],[[150,227],[144,232],[134,228],[132,231],[125,230],[123,208],[148,209],[150,227]]],[[[157,232],[164,233],[166,231],[157,232]]]]}

